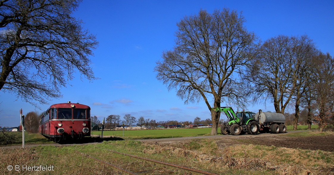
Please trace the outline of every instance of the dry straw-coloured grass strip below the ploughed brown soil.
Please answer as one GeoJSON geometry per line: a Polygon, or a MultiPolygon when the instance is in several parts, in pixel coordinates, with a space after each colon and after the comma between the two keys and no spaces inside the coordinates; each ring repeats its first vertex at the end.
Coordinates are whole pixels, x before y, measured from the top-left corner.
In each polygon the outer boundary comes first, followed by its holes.
{"type": "MultiPolygon", "coordinates": [[[[206,141],[208,142],[208,141],[206,141]]],[[[215,143],[214,140],[211,140],[215,143]]],[[[198,143],[203,143],[198,141],[198,143]]],[[[187,149],[188,143],[144,143],[144,153],[165,154],[170,157],[184,156],[188,164],[197,164],[207,169],[259,171],[278,175],[318,175],[333,174],[334,154],[324,151],[311,151],[291,148],[279,148],[260,145],[225,146],[218,151],[208,153],[205,145],[198,150],[187,149]],[[200,164],[200,165],[199,165],[200,164]],[[332,169],[333,168],[333,169],[332,169]]],[[[195,165],[192,165],[195,166],[195,165]]]]}

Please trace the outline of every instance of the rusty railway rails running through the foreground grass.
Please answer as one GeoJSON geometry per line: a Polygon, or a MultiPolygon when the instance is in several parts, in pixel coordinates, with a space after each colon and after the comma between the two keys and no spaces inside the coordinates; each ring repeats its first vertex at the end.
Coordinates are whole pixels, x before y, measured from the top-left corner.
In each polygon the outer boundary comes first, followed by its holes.
{"type": "MultiPolygon", "coordinates": [[[[97,147],[97,148],[100,148],[100,147],[97,147]]],[[[105,149],[105,148],[100,148],[100,149],[105,149]]],[[[117,154],[122,154],[122,155],[125,155],[125,156],[129,156],[129,157],[133,157],[133,158],[136,158],[136,159],[139,159],[139,160],[144,160],[144,161],[149,161],[149,162],[153,162],[153,163],[158,163],[158,164],[162,164],[162,165],[166,165],[166,166],[170,166],[170,167],[173,167],[173,168],[176,168],[176,169],[182,169],[182,170],[186,170],[186,171],[190,171],[191,174],[192,173],[195,173],[195,174],[206,174],[206,175],[218,175],[218,174],[215,174],[215,173],[211,173],[211,172],[207,172],[207,171],[202,171],[202,170],[197,170],[197,169],[193,169],[193,168],[188,168],[188,167],[184,167],[184,166],[179,166],[179,165],[174,165],[174,164],[170,164],[170,163],[166,163],[166,162],[160,162],[160,161],[156,161],[156,160],[152,160],[152,159],[147,159],[147,158],[143,158],[143,157],[138,157],[138,156],[134,156],[134,155],[130,155],[130,154],[125,154],[125,153],[120,153],[120,152],[117,152],[117,151],[113,151],[113,150],[109,150],[109,149],[105,149],[105,150],[108,150],[110,152],[113,152],[113,153],[117,153],[117,154]]],[[[117,171],[119,172],[123,172],[125,174],[131,174],[131,175],[138,175],[134,172],[131,172],[131,171],[128,171],[128,170],[125,170],[123,168],[120,168],[116,165],[112,165],[110,163],[107,163],[105,161],[102,161],[100,159],[97,159],[95,157],[91,157],[89,156],[88,154],[85,154],[85,153],[82,153],[82,152],[79,152],[79,151],[75,151],[77,153],[80,153],[82,155],[85,155],[91,159],[94,159],[100,163],[103,163],[105,165],[108,165],[114,169],[116,169],[117,171]]]]}

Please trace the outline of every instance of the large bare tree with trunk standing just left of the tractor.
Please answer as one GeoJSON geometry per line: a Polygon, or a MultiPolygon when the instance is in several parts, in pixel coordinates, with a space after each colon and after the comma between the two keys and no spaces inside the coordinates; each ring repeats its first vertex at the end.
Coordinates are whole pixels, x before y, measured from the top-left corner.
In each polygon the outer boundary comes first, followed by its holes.
{"type": "Polygon", "coordinates": [[[175,46],[164,51],[157,62],[157,79],[188,102],[205,101],[211,112],[210,135],[217,135],[221,103],[243,104],[243,88],[235,73],[252,59],[257,37],[246,30],[245,19],[224,8],[209,14],[205,10],[185,16],[177,23],[175,46]]]}

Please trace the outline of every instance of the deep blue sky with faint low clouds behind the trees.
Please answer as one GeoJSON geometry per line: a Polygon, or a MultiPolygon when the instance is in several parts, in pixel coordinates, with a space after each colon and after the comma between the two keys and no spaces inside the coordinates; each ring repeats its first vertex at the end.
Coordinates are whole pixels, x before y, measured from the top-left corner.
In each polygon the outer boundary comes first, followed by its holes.
{"type": "MultiPolygon", "coordinates": [[[[84,27],[96,34],[99,47],[91,57],[93,82],[75,79],[62,88],[63,98],[40,105],[74,103],[91,107],[91,114],[103,117],[131,114],[137,119],[156,121],[205,120],[210,111],[203,101],[185,105],[175,90],[156,80],[153,69],[164,50],[174,46],[176,23],[185,15],[200,9],[212,13],[228,7],[242,11],[245,26],[262,40],[276,35],[307,34],[318,48],[333,55],[334,1],[115,1],[83,0],[73,16],[85,22],[84,27]]],[[[0,126],[18,126],[19,110],[41,112],[15,95],[0,91],[0,126]]],[[[223,106],[223,105],[222,105],[223,106]]],[[[249,106],[246,110],[275,111],[268,102],[249,106]]],[[[292,110],[291,110],[292,111],[292,110]]]]}

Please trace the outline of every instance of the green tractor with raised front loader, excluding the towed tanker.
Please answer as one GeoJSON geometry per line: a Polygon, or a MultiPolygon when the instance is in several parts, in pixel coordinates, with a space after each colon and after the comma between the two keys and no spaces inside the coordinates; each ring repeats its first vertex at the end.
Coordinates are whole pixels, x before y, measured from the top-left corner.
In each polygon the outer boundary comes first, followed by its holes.
{"type": "Polygon", "coordinates": [[[234,112],[231,107],[211,108],[212,111],[224,112],[229,122],[223,123],[220,132],[224,135],[240,135],[248,133],[256,135],[259,131],[259,124],[255,120],[255,113],[249,111],[234,112]]]}

